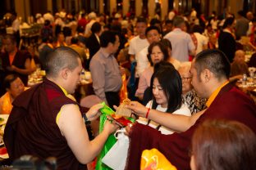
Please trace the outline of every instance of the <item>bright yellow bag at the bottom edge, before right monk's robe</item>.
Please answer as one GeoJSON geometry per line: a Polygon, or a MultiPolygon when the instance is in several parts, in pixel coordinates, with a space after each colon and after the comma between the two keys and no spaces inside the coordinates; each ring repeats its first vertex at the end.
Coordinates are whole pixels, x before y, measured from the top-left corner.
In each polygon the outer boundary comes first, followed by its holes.
{"type": "Polygon", "coordinates": [[[144,150],[140,160],[140,170],[177,170],[157,149],[144,150]]]}

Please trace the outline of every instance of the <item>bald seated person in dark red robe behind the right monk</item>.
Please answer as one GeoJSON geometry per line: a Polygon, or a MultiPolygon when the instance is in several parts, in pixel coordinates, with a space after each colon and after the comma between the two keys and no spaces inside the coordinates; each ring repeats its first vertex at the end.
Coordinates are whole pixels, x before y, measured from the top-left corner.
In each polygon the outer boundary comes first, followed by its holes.
{"type": "Polygon", "coordinates": [[[231,63],[231,77],[242,78],[243,74],[249,74],[248,66],[245,63],[245,51],[235,51],[235,57],[231,63]]]}

